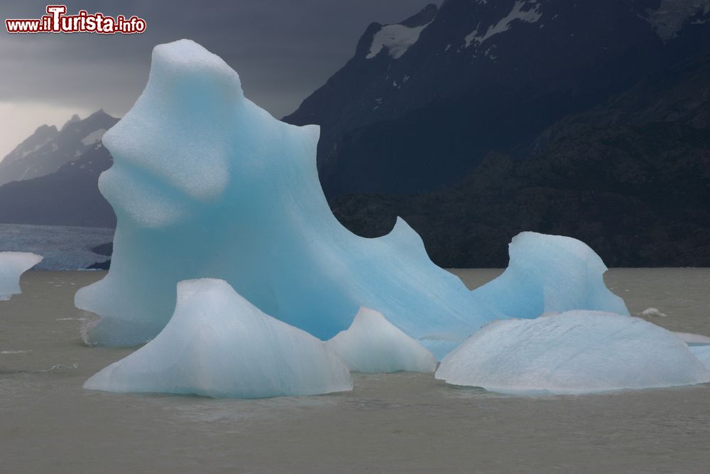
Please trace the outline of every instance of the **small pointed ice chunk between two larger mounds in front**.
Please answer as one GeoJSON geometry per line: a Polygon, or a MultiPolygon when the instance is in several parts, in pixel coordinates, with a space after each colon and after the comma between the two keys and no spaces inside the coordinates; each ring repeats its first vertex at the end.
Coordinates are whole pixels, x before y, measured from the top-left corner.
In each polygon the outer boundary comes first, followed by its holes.
{"type": "Polygon", "coordinates": [[[431,352],[370,308],[360,308],[350,328],[326,344],[358,372],[434,372],[437,367],[431,352]]]}

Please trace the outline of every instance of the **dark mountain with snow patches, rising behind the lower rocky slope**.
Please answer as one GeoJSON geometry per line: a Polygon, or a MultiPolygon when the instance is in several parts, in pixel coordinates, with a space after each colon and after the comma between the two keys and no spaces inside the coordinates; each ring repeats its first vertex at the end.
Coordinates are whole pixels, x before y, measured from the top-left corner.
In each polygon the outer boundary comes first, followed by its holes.
{"type": "Polygon", "coordinates": [[[320,124],[319,173],[343,193],[424,193],[648,75],[710,50],[710,0],[447,0],[372,23],[288,117],[320,124]],[[694,41],[692,41],[694,40],[694,41]]]}

